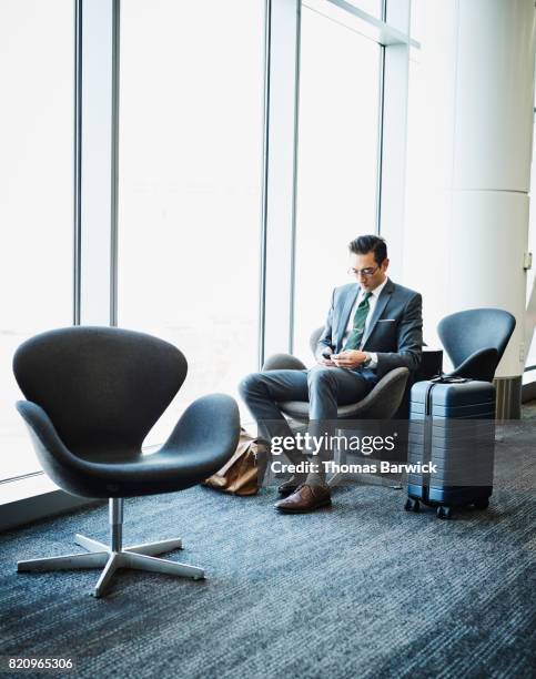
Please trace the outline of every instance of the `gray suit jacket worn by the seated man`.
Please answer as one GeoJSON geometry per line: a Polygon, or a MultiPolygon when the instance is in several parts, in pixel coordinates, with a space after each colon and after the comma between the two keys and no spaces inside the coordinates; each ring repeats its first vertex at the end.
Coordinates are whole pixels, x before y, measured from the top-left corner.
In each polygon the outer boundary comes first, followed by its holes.
{"type": "MultiPolygon", "coordinates": [[[[335,353],[342,351],[343,336],[352,307],[357,298],[360,285],[350,283],[333,291],[332,305],[327,313],[315,355],[326,347],[335,353]]],[[[418,368],[423,348],[423,302],[418,293],[387,280],[374,307],[364,336],[363,351],[377,354],[376,368],[355,368],[364,377],[377,382],[395,367],[418,368]]]]}

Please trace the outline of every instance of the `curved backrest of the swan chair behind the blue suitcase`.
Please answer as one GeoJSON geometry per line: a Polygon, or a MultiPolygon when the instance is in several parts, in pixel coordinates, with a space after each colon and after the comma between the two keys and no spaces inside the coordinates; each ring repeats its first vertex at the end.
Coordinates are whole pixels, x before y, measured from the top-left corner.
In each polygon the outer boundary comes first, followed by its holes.
{"type": "Polygon", "coordinates": [[[515,326],[515,317],[502,308],[469,308],[445,316],[437,332],[454,367],[483,348],[497,349],[498,365],[515,326]]]}

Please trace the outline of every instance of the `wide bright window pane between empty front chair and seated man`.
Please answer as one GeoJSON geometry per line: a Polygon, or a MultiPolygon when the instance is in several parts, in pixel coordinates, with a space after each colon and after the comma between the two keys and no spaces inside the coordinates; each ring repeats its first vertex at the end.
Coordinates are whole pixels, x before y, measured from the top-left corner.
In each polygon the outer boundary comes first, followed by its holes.
{"type": "Polygon", "coordinates": [[[148,438],[257,365],[264,1],[121,2],[118,322],[189,375],[148,438]]]}

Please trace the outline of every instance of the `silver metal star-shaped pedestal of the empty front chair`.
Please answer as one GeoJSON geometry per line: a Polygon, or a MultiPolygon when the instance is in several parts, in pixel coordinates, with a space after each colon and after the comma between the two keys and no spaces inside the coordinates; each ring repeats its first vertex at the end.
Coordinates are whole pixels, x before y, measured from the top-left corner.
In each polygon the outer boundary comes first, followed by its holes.
{"type": "Polygon", "coordinates": [[[158,543],[145,543],[122,547],[123,526],[123,500],[121,498],[110,499],[110,546],[99,540],[77,534],[74,541],[88,550],[88,554],[69,554],[43,559],[29,559],[19,561],[17,570],[42,571],[42,570],[71,570],[81,568],[103,568],[101,576],[93,590],[94,597],[103,596],[114,572],[119,568],[133,568],[135,570],[148,570],[179,577],[201,580],[204,570],[196,566],[155,558],[158,554],[165,554],[174,549],[182,549],[182,540],[172,538],[158,543]]]}

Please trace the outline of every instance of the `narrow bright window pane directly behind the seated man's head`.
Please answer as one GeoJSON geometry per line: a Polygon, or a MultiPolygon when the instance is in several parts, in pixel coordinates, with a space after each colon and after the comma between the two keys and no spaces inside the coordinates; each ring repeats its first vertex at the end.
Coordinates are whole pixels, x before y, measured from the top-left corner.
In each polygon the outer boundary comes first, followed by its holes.
{"type": "Polygon", "coordinates": [[[302,8],[294,353],[311,362],[346,275],[347,244],[376,231],[381,47],[302,8]]]}

